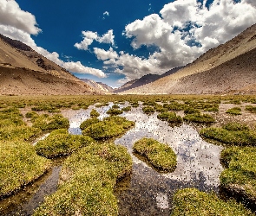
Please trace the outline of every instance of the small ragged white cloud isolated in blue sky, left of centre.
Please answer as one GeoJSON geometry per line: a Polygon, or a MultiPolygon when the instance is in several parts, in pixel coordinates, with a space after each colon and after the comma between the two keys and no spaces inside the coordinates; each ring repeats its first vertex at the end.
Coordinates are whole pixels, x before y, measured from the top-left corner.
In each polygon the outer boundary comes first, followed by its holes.
{"type": "Polygon", "coordinates": [[[83,40],[81,42],[75,43],[75,48],[88,50],[89,45],[93,43],[93,41],[98,41],[100,43],[109,43],[113,46],[115,45],[115,35],[113,34],[113,29],[109,29],[108,32],[102,36],[98,35],[97,32],[92,31],[82,31],[83,40]]]}

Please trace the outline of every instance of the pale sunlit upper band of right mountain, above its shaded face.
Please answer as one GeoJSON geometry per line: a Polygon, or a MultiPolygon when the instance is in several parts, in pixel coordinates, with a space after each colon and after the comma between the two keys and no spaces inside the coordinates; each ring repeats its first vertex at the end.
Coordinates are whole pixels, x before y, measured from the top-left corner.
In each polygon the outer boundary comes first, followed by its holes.
{"type": "Polygon", "coordinates": [[[246,29],[240,35],[234,37],[231,41],[227,41],[225,44],[220,45],[217,48],[212,48],[207,53],[202,54],[193,63],[182,68],[177,73],[171,74],[165,78],[158,79],[155,82],[134,88],[132,90],[122,93],[167,93],[171,92],[179,79],[183,77],[202,73],[204,71],[218,67],[228,60],[245,54],[250,50],[256,48],[256,24],[246,29]]]}

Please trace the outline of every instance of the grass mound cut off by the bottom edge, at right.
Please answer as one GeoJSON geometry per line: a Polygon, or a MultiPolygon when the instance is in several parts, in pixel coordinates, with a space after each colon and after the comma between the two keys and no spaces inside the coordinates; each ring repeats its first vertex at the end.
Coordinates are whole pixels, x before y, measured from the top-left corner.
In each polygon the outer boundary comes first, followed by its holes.
{"type": "Polygon", "coordinates": [[[195,188],[186,188],[179,190],[174,195],[174,207],[171,216],[181,215],[253,216],[254,214],[234,200],[224,201],[220,200],[216,194],[207,194],[195,188]]]}

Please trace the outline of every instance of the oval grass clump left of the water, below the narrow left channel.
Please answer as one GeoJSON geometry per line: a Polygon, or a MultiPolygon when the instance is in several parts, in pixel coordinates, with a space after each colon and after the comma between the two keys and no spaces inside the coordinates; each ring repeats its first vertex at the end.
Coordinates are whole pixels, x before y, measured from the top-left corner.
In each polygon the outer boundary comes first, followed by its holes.
{"type": "Polygon", "coordinates": [[[93,141],[91,137],[70,135],[68,130],[54,130],[49,137],[36,143],[36,153],[46,158],[68,156],[93,141]]]}

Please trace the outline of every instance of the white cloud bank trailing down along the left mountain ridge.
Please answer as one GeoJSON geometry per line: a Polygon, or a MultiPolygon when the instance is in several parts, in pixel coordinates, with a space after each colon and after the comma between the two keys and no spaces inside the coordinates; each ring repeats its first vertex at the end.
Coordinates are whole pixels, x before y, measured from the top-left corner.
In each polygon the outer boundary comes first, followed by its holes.
{"type": "MultiPolygon", "coordinates": [[[[36,42],[30,35],[36,35],[40,31],[37,28],[35,16],[21,10],[14,0],[0,0],[0,34],[14,40],[22,41],[36,50],[37,53],[42,54],[67,70],[75,73],[90,73],[101,78],[106,77],[106,74],[102,70],[84,67],[80,61],[64,62],[56,52],[50,53],[48,50],[36,46],[36,42]]],[[[88,37],[93,37],[93,34],[88,34],[88,37]]]]}

